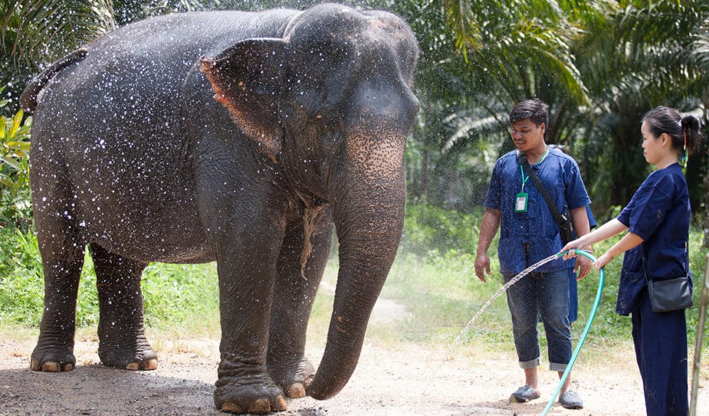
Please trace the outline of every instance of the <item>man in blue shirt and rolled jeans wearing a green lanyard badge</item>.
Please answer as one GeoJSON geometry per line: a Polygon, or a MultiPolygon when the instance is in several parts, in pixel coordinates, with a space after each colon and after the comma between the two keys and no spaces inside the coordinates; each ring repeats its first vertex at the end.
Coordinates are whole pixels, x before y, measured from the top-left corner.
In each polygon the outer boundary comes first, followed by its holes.
{"type": "MultiPolygon", "coordinates": [[[[539,99],[528,99],[510,111],[510,135],[517,147],[503,155],[493,168],[486,207],[480,227],[475,274],[486,282],[490,274],[487,251],[500,228],[498,258],[506,282],[525,268],[558,253],[564,244],[559,226],[539,190],[529,180],[520,161],[524,153],[551,195],[559,212],[564,207],[571,211],[576,234],[589,231],[586,205],[591,203],[586,192],[579,165],[559,150],[549,149],[544,134],[548,124],[549,106],[539,99]]],[[[549,369],[562,377],[571,360],[571,327],[569,324],[569,277],[567,263],[561,258],[545,264],[507,290],[507,302],[512,316],[515,349],[520,367],[525,373],[525,385],[510,396],[510,401],[525,403],[540,397],[537,385],[537,367],[540,365],[540,347],[537,337],[537,316],[542,317],[547,334],[549,369]]],[[[579,278],[591,270],[591,262],[576,257],[579,278]]],[[[566,378],[559,395],[559,403],[569,409],[584,406],[578,393],[569,389],[571,377],[566,378]]]]}

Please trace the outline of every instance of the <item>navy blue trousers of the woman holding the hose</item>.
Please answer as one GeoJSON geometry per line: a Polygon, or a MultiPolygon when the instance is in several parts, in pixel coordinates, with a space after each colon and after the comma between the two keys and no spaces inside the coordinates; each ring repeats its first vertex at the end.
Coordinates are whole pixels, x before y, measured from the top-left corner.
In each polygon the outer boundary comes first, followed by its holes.
{"type": "Polygon", "coordinates": [[[647,292],[632,312],[632,339],[648,416],[686,416],[687,322],[684,310],[652,312],[647,292]]]}

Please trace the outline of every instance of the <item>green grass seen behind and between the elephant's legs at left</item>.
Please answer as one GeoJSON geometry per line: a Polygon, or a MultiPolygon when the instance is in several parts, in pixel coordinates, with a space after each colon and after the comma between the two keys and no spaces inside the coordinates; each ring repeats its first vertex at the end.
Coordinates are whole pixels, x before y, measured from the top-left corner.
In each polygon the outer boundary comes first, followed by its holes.
{"type": "MultiPolygon", "coordinates": [[[[0,323],[38,326],[44,282],[33,231],[0,228],[0,255],[0,323]]],[[[218,280],[213,264],[151,264],[143,273],[141,286],[148,326],[180,326],[196,331],[218,326],[218,280]]],[[[96,275],[87,252],[79,283],[77,326],[95,327],[98,323],[96,275]]]]}

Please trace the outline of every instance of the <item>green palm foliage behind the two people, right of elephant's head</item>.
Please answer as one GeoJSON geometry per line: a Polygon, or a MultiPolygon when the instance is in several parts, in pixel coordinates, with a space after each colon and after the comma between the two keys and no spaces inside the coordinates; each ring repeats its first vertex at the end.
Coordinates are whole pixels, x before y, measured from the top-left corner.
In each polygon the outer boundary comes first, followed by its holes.
{"type": "MultiPolygon", "coordinates": [[[[415,11],[409,21],[420,40],[423,33],[418,81],[424,121],[414,131],[418,147],[410,146],[418,169],[411,178],[414,196],[456,194],[441,192],[461,185],[448,180],[457,177],[452,171],[479,166],[489,157],[480,158],[481,149],[489,152],[492,144],[500,152],[510,149],[508,141],[497,147],[504,114],[527,97],[550,104],[547,140],[566,145],[579,161],[601,217],[625,204],[647,175],[636,151],[645,111],[665,104],[708,120],[705,1],[430,1],[418,9],[411,3],[399,7],[415,11]],[[440,15],[431,11],[436,7],[440,15]],[[417,16],[435,18],[427,26],[417,16]],[[447,128],[466,119],[465,134],[447,128]],[[485,145],[478,143],[481,137],[485,145]]],[[[706,175],[708,159],[691,159],[688,177],[706,175]]],[[[705,211],[705,190],[690,182],[693,207],[705,211]]],[[[423,199],[447,204],[445,198],[423,199]]]]}

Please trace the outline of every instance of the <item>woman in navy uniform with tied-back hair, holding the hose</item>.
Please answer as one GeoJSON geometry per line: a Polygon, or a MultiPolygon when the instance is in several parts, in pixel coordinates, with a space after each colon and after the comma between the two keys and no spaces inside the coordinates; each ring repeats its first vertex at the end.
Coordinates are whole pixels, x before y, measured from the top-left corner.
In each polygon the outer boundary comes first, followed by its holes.
{"type": "Polygon", "coordinates": [[[647,415],[684,415],[687,398],[687,327],[684,310],[652,312],[646,278],[664,280],[690,275],[688,262],[689,194],[679,162],[697,150],[702,139],[695,116],[657,107],[643,117],[642,149],[657,170],[632,196],[615,219],[569,242],[574,248],[603,241],[627,230],[593,263],[596,271],[625,253],[618,288],[618,314],[631,314],[635,356],[647,415]]]}

